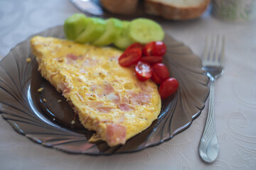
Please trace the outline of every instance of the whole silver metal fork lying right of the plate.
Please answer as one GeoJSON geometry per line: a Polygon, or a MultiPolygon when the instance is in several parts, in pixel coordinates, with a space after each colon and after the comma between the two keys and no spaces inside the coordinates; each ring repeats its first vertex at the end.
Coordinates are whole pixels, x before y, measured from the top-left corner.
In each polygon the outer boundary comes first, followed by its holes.
{"type": "Polygon", "coordinates": [[[207,76],[210,79],[210,95],[209,95],[209,109],[206,120],[206,126],[203,131],[203,136],[199,144],[199,154],[205,162],[214,162],[218,157],[218,140],[215,130],[215,119],[214,119],[214,83],[215,80],[223,74],[224,67],[224,48],[225,48],[225,37],[221,38],[217,35],[215,47],[214,38],[212,35],[210,42],[210,52],[208,52],[208,37],[206,36],[206,47],[203,55],[203,68],[207,72],[207,76]],[[219,52],[220,46],[220,52],[219,52]],[[214,52],[215,49],[215,52],[214,52]]]}

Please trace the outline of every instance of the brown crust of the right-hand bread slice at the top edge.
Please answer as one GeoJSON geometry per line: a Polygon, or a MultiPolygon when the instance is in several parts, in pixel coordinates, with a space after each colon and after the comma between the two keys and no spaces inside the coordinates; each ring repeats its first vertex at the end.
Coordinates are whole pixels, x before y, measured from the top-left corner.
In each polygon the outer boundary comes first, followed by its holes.
{"type": "Polygon", "coordinates": [[[144,6],[147,14],[162,16],[169,20],[178,21],[198,18],[204,11],[206,11],[209,3],[210,0],[206,0],[198,6],[178,7],[154,0],[146,0],[144,1],[144,6]]]}

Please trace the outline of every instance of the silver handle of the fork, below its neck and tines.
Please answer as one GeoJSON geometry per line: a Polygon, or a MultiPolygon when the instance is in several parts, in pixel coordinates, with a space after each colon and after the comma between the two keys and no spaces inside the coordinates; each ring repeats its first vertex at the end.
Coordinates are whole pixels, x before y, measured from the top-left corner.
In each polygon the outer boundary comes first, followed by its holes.
{"type": "Polygon", "coordinates": [[[214,79],[210,79],[209,110],[206,126],[204,128],[203,136],[199,145],[199,152],[202,159],[209,163],[215,161],[219,150],[214,118],[214,84],[214,79]],[[204,153],[206,153],[206,155],[203,155],[204,153]]]}

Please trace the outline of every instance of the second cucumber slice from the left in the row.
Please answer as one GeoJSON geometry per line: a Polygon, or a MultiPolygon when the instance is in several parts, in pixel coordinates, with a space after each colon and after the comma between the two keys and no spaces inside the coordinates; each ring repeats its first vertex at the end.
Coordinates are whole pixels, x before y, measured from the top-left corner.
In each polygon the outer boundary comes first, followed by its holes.
{"type": "Polygon", "coordinates": [[[76,42],[92,42],[100,38],[106,30],[106,21],[102,18],[87,18],[87,27],[75,40],[76,42]]]}

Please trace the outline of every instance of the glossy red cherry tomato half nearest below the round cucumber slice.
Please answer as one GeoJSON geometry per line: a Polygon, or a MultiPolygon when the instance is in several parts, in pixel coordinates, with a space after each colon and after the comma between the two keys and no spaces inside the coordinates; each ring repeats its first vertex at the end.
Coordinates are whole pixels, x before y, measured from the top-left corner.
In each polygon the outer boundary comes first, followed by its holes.
{"type": "Polygon", "coordinates": [[[142,52],[145,56],[163,57],[166,53],[166,45],[161,41],[152,41],[144,46],[142,52]]]}

